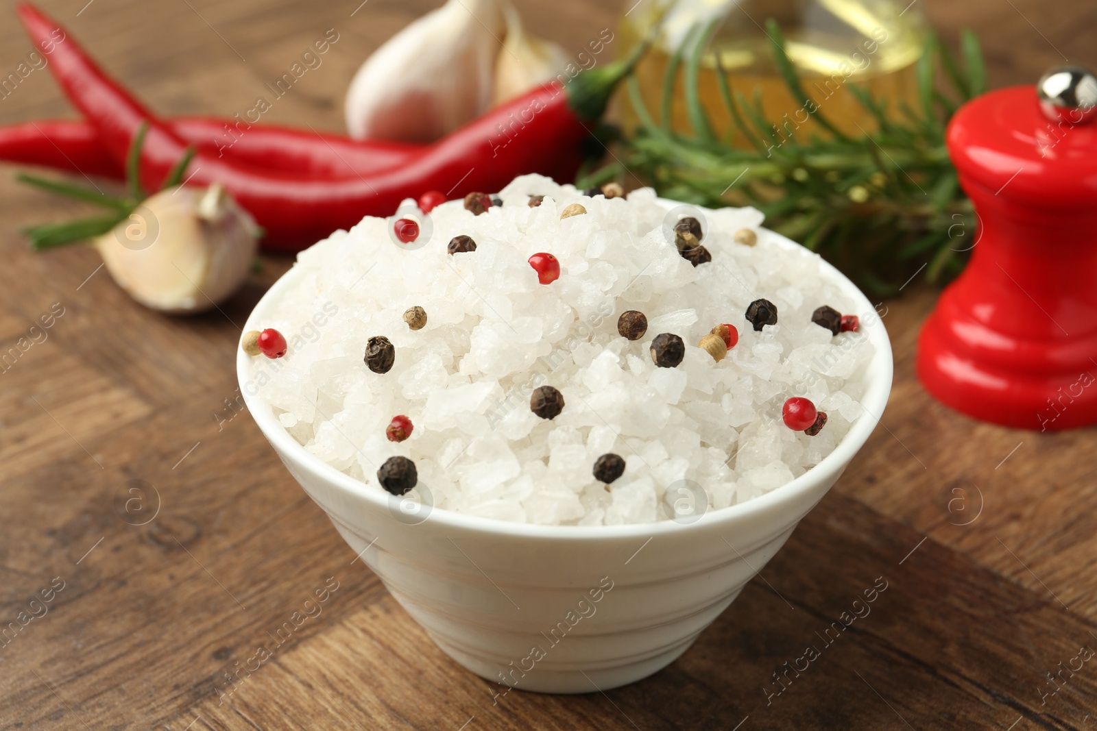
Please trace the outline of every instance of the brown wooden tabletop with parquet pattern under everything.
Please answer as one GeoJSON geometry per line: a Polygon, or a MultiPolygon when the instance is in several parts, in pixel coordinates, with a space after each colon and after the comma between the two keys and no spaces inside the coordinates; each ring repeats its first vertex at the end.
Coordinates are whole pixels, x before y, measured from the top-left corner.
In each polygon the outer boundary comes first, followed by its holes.
{"type": "MultiPolygon", "coordinates": [[[[332,129],[366,53],[434,4],[84,2],[46,9],[171,114],[250,108],[335,27],[324,65],[265,117],[332,129]]],[[[519,4],[531,27],[576,49],[619,10],[519,4]]],[[[992,85],[1031,82],[1063,58],[1097,62],[1090,3],[923,4],[949,41],[964,25],[981,32],[992,85]]],[[[7,73],[30,50],[10,5],[0,38],[7,73]]],[[[0,122],[69,114],[47,76],[3,100],[0,122]]],[[[998,429],[930,400],[912,362],[932,292],[912,285],[887,305],[895,388],[883,424],[689,652],[607,694],[517,693],[493,706],[493,684],[445,658],[351,566],[251,419],[234,416],[235,323],[289,262],[267,259],[224,313],[159,317],[123,295],[93,251],[27,253],[16,227],[78,206],[9,174],[0,196],[0,352],[64,308],[0,374],[0,624],[64,585],[0,648],[3,729],[1097,728],[1097,661],[1064,670],[1097,649],[1097,438],[998,429]],[[120,511],[133,480],[149,486],[131,505],[144,513],[120,511]],[[339,589],[323,614],[218,703],[223,674],[329,576],[339,589]],[[889,587],[871,614],[821,641],[881,576],[889,587]],[[811,644],[821,656],[767,701],[773,673],[802,664],[811,644]]]]}

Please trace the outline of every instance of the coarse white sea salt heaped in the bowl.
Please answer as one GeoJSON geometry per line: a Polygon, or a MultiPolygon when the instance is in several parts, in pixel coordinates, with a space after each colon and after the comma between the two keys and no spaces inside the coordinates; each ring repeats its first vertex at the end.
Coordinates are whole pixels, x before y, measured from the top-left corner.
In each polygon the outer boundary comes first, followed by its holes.
{"type": "MultiPolygon", "coordinates": [[[[589,198],[546,178],[516,179],[480,216],[461,202],[434,208],[433,236],[408,250],[380,218],[364,218],[298,254],[297,286],[264,327],[290,352],[256,358],[251,388],[304,447],[382,490],[388,457],[415,460],[412,500],[500,521],[548,525],[621,525],[672,517],[675,486],[701,486],[710,510],[750,500],[803,475],[830,454],[862,418],[859,401],[873,347],[862,333],[833,336],[811,322],[828,305],[853,302],[825,278],[819,259],[787,250],[758,228],[753,208],[705,213],[712,262],[693,267],[668,239],[667,208],[648,189],[627,199],[589,198]],[[531,194],[544,195],[530,208],[531,194]],[[569,203],[586,215],[561,219],[569,203]],[[750,228],[756,247],[734,242],[750,228]],[[450,255],[457,235],[477,242],[450,255]],[[541,285],[527,259],[561,262],[541,285]],[[756,332],[744,313],[755,299],[778,306],[776,325],[756,332]],[[427,311],[411,331],[403,312],[427,311]],[[644,338],[617,332],[622,311],[648,319],[644,338]],[[738,344],[716,363],[698,341],[727,322],[738,344]],[[686,342],[675,368],[652,363],[655,335],[686,342]],[[363,363],[370,336],[396,349],[387,374],[363,363]],[[547,421],[530,411],[531,391],[552,385],[565,398],[547,421]],[[781,422],[791,396],[827,411],[810,437],[781,422]],[[415,423],[410,438],[388,442],[395,414],[415,423]],[[606,489],[593,479],[607,452],[625,473],[606,489]],[[670,492],[668,492],[668,490],[670,492]]],[[[247,387],[247,386],[246,386],[247,387]]]]}

